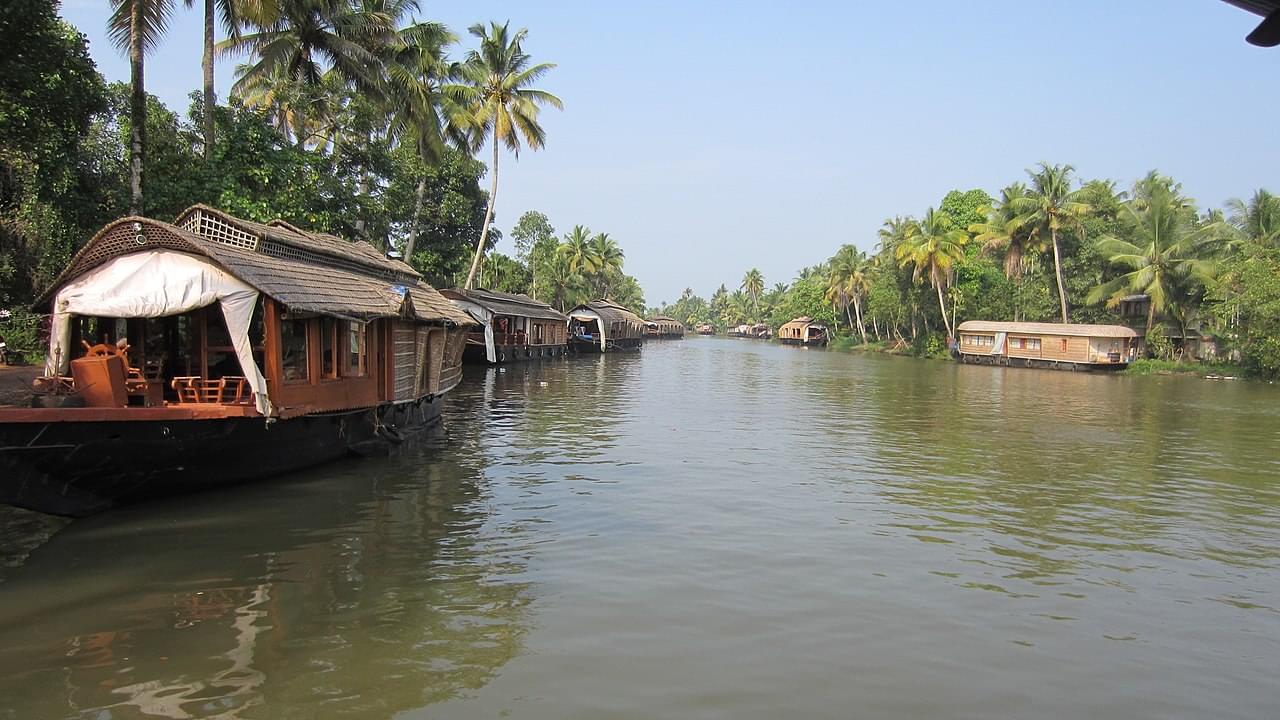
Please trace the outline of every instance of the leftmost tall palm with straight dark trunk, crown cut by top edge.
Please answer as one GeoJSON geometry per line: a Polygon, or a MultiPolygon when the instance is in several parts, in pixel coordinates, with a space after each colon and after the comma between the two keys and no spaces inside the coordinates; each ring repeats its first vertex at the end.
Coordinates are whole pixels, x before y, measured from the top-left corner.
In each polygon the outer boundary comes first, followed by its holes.
{"type": "Polygon", "coordinates": [[[129,56],[129,213],[141,215],[143,146],[147,132],[147,91],[143,58],[156,49],[169,18],[173,0],[111,0],[108,35],[129,56]]]}

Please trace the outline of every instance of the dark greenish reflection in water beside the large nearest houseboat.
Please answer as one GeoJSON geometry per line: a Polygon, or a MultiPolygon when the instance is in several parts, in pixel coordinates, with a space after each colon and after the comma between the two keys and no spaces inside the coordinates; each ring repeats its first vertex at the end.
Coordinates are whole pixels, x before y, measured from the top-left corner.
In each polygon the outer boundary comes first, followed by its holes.
{"type": "Polygon", "coordinates": [[[0,707],[392,717],[481,687],[527,632],[522,538],[440,445],[72,524],[0,584],[0,707]]]}

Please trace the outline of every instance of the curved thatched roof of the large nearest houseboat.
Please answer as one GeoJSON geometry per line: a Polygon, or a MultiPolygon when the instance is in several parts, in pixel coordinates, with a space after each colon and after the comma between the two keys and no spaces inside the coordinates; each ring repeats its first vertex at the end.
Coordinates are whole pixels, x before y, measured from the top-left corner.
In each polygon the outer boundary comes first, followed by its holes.
{"type": "MultiPolygon", "coordinates": [[[[253,227],[266,225],[247,222],[236,225],[244,233],[248,231],[243,228],[253,227]]],[[[320,251],[305,254],[305,259],[280,258],[262,250],[264,237],[253,237],[257,238],[256,249],[242,236],[205,237],[150,218],[122,218],[99,231],[76,254],[37,306],[47,309],[61,286],[114,258],[143,250],[174,250],[207,258],[294,313],[358,320],[404,316],[422,322],[475,324],[470,315],[416,274],[387,277],[371,261],[346,263],[338,259],[328,263],[330,254],[320,251]]]]}

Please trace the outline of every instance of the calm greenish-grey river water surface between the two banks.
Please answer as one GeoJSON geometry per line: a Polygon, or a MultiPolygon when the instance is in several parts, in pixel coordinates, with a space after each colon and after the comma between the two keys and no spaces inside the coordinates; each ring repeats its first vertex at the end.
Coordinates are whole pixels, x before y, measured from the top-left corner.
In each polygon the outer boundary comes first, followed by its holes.
{"type": "Polygon", "coordinates": [[[1266,384],[690,338],[0,523],[5,720],[1280,716],[1266,384]]]}

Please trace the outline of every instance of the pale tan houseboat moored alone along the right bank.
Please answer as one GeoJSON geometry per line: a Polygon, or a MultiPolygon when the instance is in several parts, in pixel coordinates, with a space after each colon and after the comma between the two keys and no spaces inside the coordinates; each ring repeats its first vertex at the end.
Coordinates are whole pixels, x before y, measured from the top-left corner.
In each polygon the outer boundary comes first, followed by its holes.
{"type": "Polygon", "coordinates": [[[961,363],[1064,370],[1124,368],[1140,340],[1124,325],[968,320],[956,331],[961,363]]]}

